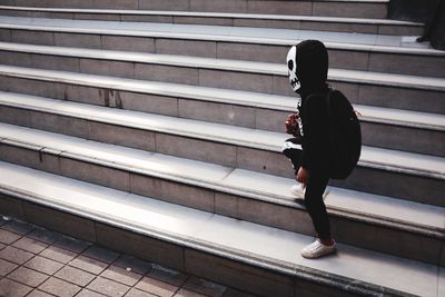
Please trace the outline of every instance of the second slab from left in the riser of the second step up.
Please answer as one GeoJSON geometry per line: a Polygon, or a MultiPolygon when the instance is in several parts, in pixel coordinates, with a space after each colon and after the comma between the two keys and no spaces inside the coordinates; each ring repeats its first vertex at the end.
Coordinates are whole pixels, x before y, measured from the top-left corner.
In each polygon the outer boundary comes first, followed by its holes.
{"type": "Polygon", "coordinates": [[[68,158],[60,159],[60,170],[63,176],[119,190],[129,190],[129,174],[126,171],[68,158]]]}

